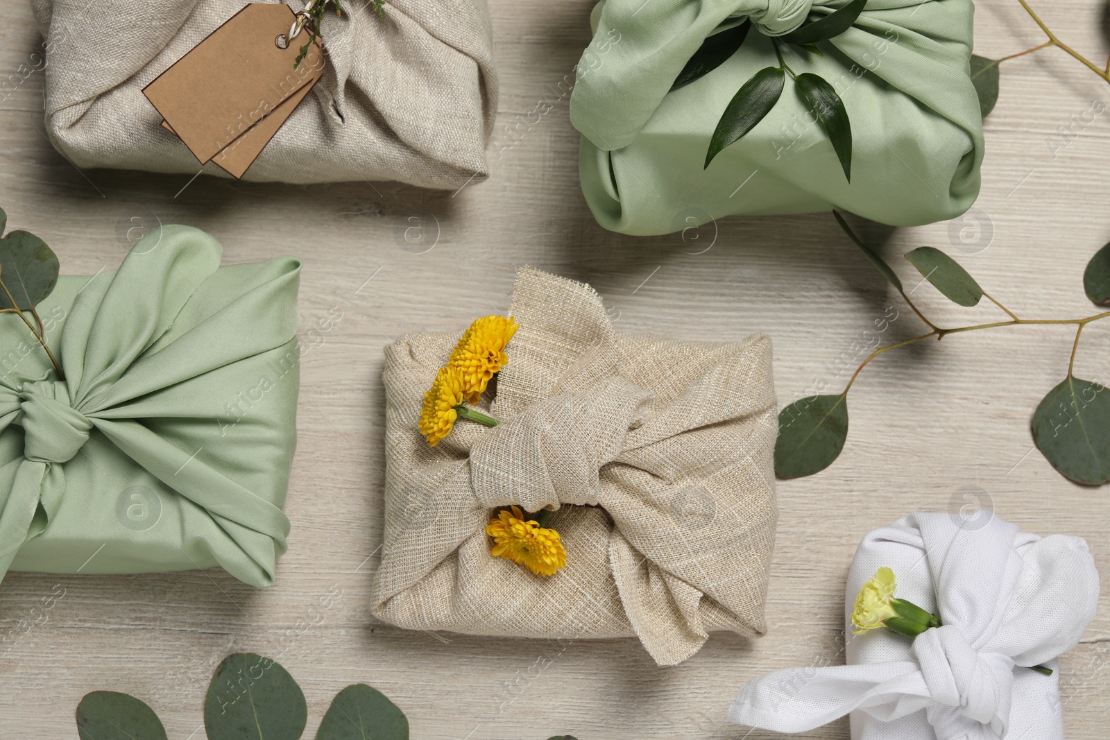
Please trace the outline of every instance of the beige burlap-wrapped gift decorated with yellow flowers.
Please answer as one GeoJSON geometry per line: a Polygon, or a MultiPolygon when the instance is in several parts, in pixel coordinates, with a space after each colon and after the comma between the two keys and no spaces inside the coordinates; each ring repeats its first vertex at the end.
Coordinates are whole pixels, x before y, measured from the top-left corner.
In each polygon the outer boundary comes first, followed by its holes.
{"type": "MultiPolygon", "coordinates": [[[[660,665],[714,630],[754,637],[775,539],[770,342],[619,335],[588,285],[524,267],[496,393],[500,419],[436,447],[424,392],[458,334],[385,351],[385,531],[376,617],[410,629],[636,636],[660,665]],[[551,577],[490,554],[498,507],[555,509],[551,577]]],[[[462,330],[462,327],[460,327],[462,330]]]]}

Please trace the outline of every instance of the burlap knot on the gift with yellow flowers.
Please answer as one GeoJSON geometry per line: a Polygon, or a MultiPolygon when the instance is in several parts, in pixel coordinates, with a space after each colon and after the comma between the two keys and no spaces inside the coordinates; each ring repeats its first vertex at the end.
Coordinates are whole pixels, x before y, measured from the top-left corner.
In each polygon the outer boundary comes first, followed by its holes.
{"type": "Polygon", "coordinates": [[[597,505],[599,473],[623,452],[653,395],[622,377],[552,396],[484,430],[471,449],[471,484],[485,506],[537,511],[597,505]]]}

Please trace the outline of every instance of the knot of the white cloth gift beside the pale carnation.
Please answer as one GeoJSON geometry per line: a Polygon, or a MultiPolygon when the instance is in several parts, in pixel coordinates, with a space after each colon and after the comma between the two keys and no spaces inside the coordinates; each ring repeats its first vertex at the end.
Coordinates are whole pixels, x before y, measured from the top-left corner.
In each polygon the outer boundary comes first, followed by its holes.
{"type": "Polygon", "coordinates": [[[983,724],[1006,724],[1013,688],[1011,658],[976,650],[956,625],[918,635],[914,655],[934,701],[983,724]]]}

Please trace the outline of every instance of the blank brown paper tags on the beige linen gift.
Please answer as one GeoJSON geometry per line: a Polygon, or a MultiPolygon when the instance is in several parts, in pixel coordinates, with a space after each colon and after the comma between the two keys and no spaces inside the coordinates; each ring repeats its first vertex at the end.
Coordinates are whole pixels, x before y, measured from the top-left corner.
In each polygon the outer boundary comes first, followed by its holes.
{"type": "Polygon", "coordinates": [[[289,6],[249,4],[143,89],[201,164],[214,158],[242,176],[323,75],[316,43],[293,69],[306,34],[287,49],[274,42],[293,20],[289,6]]]}

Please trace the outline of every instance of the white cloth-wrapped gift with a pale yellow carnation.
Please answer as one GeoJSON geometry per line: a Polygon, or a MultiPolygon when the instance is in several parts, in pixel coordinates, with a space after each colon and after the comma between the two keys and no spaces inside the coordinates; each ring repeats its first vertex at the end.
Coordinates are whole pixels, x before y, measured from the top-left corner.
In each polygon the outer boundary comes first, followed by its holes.
{"type": "Polygon", "coordinates": [[[804,732],[846,713],[854,740],[1061,740],[1057,657],[1094,618],[1099,578],[1079,537],[1038,537],[989,511],[914,514],[864,538],[856,595],[881,567],[895,596],[939,615],[917,638],[850,636],[847,666],[780,670],[745,686],[734,722],[804,732]],[[1043,665],[1051,676],[1030,670],[1043,665]]]}

